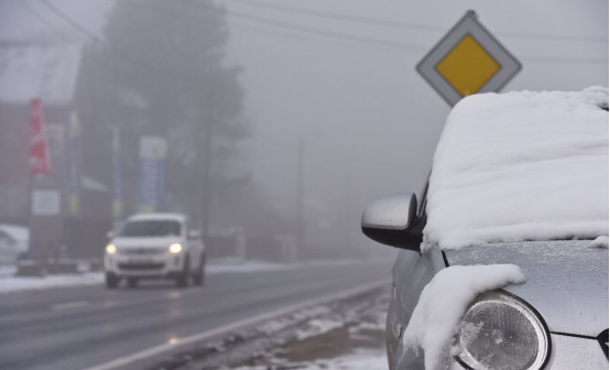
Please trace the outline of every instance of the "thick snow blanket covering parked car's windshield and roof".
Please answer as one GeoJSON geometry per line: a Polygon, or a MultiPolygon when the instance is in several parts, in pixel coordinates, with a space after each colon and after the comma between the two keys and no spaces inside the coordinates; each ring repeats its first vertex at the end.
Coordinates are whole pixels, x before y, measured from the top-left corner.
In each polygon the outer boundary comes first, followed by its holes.
{"type": "Polygon", "coordinates": [[[425,243],[608,236],[608,89],[481,94],[447,118],[425,243]]]}

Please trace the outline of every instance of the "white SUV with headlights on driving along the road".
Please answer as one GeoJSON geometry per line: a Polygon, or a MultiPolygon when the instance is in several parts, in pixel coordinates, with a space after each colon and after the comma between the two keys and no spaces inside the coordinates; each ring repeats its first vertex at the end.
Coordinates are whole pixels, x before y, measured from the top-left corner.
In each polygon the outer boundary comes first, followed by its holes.
{"type": "Polygon", "coordinates": [[[143,214],[128,218],[111,233],[105,253],[106,286],[122,279],[137,286],[140,279],[174,279],[186,286],[201,285],[206,250],[197,230],[178,214],[143,214]]]}

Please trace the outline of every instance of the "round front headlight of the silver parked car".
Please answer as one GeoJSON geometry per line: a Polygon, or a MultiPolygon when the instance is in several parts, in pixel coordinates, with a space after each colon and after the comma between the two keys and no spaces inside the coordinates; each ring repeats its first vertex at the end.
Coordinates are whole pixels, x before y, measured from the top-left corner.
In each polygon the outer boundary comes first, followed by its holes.
{"type": "Polygon", "coordinates": [[[456,359],[467,369],[538,370],[546,362],[548,330],[532,307],[509,293],[481,294],[461,324],[456,359]]]}

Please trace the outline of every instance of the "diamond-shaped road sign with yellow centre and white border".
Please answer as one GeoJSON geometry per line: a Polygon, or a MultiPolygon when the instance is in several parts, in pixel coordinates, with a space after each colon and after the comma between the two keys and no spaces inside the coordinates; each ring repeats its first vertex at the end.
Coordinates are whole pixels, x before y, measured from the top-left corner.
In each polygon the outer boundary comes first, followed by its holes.
{"type": "Polygon", "coordinates": [[[477,20],[466,15],[417,64],[417,73],[450,105],[478,92],[498,92],[521,63],[477,20]]]}

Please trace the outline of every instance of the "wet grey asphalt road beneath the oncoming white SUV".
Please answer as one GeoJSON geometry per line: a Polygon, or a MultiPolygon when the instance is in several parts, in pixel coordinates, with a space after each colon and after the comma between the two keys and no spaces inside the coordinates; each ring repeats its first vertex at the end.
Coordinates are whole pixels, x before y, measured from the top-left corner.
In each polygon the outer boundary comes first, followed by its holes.
{"type": "Polygon", "coordinates": [[[73,370],[107,363],[248,317],[390,280],[391,262],[224,273],[204,287],[168,282],[0,295],[0,369],[73,370]]]}

